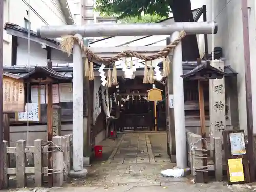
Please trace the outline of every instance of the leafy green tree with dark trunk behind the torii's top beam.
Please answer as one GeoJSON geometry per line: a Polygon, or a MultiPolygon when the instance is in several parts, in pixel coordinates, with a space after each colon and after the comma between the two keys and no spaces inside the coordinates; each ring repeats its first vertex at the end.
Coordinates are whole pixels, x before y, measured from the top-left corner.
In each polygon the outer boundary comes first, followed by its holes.
{"type": "MultiPolygon", "coordinates": [[[[126,21],[129,18],[139,21],[143,14],[168,17],[171,12],[175,22],[194,21],[190,0],[96,0],[96,9],[103,16],[117,16],[126,21]]],[[[196,35],[188,35],[182,40],[182,56],[183,60],[199,58],[196,35]]]]}

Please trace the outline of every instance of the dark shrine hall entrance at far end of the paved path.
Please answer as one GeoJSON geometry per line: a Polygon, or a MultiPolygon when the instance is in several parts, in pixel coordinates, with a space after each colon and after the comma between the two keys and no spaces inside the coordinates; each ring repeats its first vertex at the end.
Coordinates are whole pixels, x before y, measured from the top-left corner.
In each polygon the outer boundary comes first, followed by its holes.
{"type": "MultiPolygon", "coordinates": [[[[119,78],[119,111],[117,131],[157,131],[166,129],[165,100],[156,103],[156,119],[154,101],[148,100],[148,90],[152,84],[143,84],[143,76],[134,79],[119,78]]],[[[154,87],[164,90],[164,85],[155,81],[154,87]]],[[[163,92],[164,95],[164,92],[163,92]]]]}

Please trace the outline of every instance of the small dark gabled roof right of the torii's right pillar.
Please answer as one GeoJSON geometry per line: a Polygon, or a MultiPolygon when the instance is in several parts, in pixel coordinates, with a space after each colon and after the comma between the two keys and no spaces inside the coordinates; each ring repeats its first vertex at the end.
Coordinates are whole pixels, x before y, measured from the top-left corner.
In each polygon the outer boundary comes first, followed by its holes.
{"type": "Polygon", "coordinates": [[[181,75],[183,79],[198,80],[198,79],[221,79],[230,74],[217,69],[210,65],[210,62],[201,63],[189,72],[181,75]]]}

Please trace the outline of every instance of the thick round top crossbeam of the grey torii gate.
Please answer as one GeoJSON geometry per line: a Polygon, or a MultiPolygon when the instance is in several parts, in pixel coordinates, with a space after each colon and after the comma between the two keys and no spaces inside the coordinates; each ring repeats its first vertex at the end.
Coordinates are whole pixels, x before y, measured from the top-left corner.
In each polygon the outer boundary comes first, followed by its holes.
{"type": "Polygon", "coordinates": [[[82,26],[42,26],[37,30],[37,34],[46,38],[57,38],[64,35],[75,35],[77,33],[83,37],[108,37],[169,35],[175,31],[182,30],[187,34],[216,34],[218,27],[215,22],[177,22],[173,24],[88,24],[82,26]]]}

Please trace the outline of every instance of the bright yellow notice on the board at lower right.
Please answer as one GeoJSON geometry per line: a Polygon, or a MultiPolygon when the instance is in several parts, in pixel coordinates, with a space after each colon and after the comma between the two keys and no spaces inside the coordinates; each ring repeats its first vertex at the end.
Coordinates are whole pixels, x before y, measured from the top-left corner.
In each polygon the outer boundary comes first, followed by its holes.
{"type": "Polygon", "coordinates": [[[228,159],[230,182],[244,181],[244,169],[242,159],[228,159]]]}

